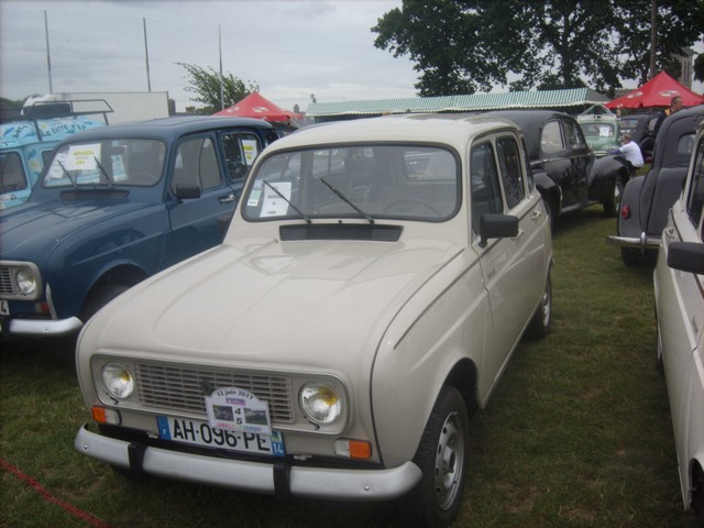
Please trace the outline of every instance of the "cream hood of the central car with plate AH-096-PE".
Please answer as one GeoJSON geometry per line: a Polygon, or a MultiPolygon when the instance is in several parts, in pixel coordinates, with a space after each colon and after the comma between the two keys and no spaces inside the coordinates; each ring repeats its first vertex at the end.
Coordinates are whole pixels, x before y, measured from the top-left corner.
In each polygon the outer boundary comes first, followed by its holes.
{"type": "Polygon", "coordinates": [[[437,240],[223,244],[108,305],[81,348],[352,371],[360,351],[373,356],[400,307],[460,251],[437,240]]]}

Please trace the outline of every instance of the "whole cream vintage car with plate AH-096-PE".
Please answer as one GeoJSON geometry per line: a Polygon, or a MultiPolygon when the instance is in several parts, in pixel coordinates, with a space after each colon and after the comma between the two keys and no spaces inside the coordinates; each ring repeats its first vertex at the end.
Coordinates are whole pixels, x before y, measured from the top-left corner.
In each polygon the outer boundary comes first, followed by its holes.
{"type": "Polygon", "coordinates": [[[310,127],[252,168],[221,245],[100,310],[76,449],[133,477],[406,502],[447,526],[470,416],[551,318],[549,219],[519,129],[310,127]]]}

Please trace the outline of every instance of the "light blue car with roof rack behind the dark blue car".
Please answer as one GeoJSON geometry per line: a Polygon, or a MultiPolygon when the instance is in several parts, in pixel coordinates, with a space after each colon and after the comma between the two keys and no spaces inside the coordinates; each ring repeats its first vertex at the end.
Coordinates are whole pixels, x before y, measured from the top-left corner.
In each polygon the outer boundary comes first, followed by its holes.
{"type": "Polygon", "coordinates": [[[0,209],[26,201],[54,146],[77,132],[105,127],[112,109],[102,100],[81,100],[35,103],[23,111],[0,123],[0,209]]]}

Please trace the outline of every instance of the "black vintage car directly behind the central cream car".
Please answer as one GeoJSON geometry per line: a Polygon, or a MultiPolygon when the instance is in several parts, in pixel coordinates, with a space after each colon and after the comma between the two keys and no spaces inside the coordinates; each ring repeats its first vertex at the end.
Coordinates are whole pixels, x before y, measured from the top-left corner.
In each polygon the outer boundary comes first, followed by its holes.
{"type": "Polygon", "coordinates": [[[616,215],[628,170],[613,156],[595,161],[574,118],[552,110],[486,113],[509,119],[522,130],[534,179],[552,219],[593,204],[616,215]]]}

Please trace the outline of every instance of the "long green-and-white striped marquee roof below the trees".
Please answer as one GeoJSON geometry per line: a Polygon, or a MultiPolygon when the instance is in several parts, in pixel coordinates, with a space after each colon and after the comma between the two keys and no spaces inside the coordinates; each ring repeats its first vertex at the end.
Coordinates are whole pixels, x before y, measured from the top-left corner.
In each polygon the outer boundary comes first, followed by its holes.
{"type": "Polygon", "coordinates": [[[607,102],[609,99],[588,88],[566,90],[509,91],[468,96],[414,97],[371,101],[314,102],[306,116],[378,116],[406,112],[466,112],[499,108],[566,108],[607,102]]]}

